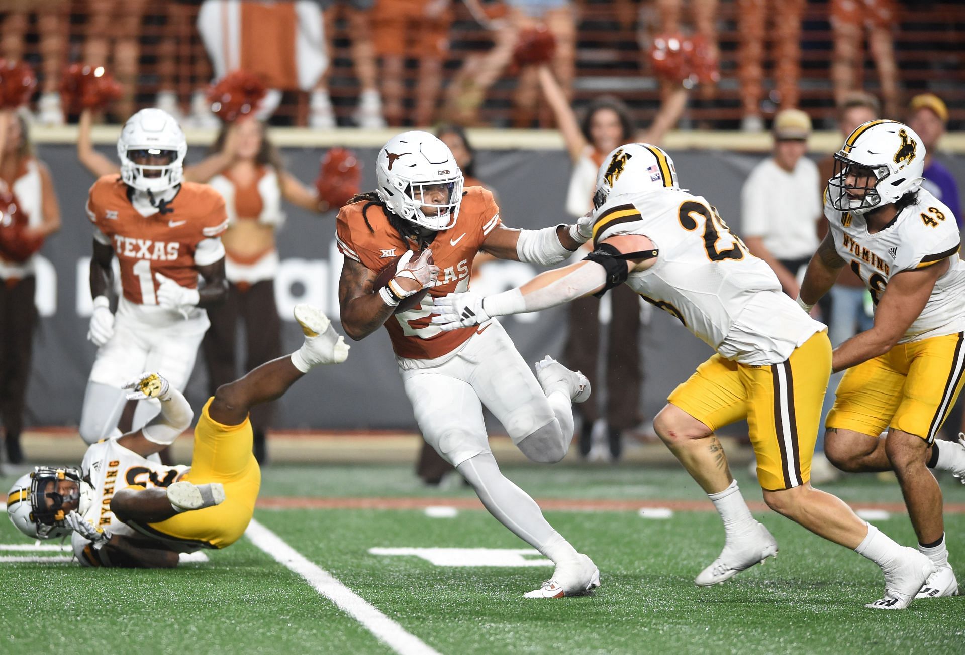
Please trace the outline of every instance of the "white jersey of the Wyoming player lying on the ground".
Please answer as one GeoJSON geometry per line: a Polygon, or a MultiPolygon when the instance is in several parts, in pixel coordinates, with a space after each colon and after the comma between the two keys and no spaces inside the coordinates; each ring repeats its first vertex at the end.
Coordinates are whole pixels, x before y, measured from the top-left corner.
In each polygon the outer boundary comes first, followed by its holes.
{"type": "MultiPolygon", "coordinates": [[[[94,487],[94,501],[84,514],[84,518],[97,527],[110,530],[112,534],[125,537],[140,535],[140,533],[119,521],[111,511],[111,499],[114,493],[130,485],[142,485],[147,488],[168,486],[176,482],[179,475],[188,469],[187,466],[165,466],[151,459],[145,459],[124,448],[117,439],[103,439],[92,444],[84,454],[80,468],[83,476],[94,487]]],[[[73,546],[73,554],[80,563],[92,565],[84,553],[84,548],[90,544],[90,541],[73,533],[70,543],[73,546]]]]}

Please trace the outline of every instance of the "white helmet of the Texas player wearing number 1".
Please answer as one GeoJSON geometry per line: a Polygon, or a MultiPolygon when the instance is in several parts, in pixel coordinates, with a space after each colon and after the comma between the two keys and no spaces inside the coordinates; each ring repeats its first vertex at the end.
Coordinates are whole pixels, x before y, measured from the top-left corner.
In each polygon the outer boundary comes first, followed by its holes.
{"type": "Polygon", "coordinates": [[[184,179],[187,140],[178,121],[160,109],[142,109],[127,118],[118,138],[121,179],[137,191],[158,194],[184,179]],[[135,163],[152,157],[157,164],[135,163]]]}

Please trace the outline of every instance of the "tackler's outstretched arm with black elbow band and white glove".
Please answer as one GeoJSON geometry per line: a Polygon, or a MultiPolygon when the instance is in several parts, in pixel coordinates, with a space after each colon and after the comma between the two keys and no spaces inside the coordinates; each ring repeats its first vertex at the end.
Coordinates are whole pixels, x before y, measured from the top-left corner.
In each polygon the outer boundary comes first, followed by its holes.
{"type": "Polygon", "coordinates": [[[588,259],[541,273],[520,287],[483,297],[472,291],[435,299],[438,314],[432,323],[443,330],[468,328],[493,316],[522,314],[555,307],[619,285],[633,271],[643,271],[655,261],[623,259],[613,255],[654,251],[645,236],[622,235],[604,241],[588,259]],[[601,263],[610,257],[612,261],[601,263]]]}

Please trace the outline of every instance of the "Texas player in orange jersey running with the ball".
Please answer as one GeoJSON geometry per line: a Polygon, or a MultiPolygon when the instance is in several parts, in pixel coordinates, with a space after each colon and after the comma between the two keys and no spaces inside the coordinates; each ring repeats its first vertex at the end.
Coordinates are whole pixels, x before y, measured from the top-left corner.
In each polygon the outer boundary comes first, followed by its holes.
{"type": "Polygon", "coordinates": [[[453,331],[430,322],[434,297],[469,288],[478,252],[541,265],[562,262],[590,239],[589,217],[540,230],[506,227],[492,194],[482,187],[463,189],[453,153],[428,132],[404,132],[385,144],[376,176],[377,191],[355,196],[339,213],[345,333],[363,339],[385,326],[429,445],[497,520],[556,563],[553,578],[527,597],[559,598],[595,588],[599,571],[590,558],[500,472],[483,422],[486,406],[529,459],[559,461],[573,436],[571,403],[589,397],[590,383],[549,357],[538,362],[534,376],[497,321],[453,331]],[[395,268],[378,286],[387,265],[395,268]]]}

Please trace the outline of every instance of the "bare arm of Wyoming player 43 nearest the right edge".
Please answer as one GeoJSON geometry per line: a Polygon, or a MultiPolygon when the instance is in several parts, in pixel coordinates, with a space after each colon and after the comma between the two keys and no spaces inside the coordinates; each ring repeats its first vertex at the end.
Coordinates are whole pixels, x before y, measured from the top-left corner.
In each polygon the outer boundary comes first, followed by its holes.
{"type": "Polygon", "coordinates": [[[918,271],[903,271],[888,282],[874,310],[874,325],[835,349],[831,368],[837,373],[894,348],[919,317],[939,277],[949,270],[948,260],[918,271]]]}

